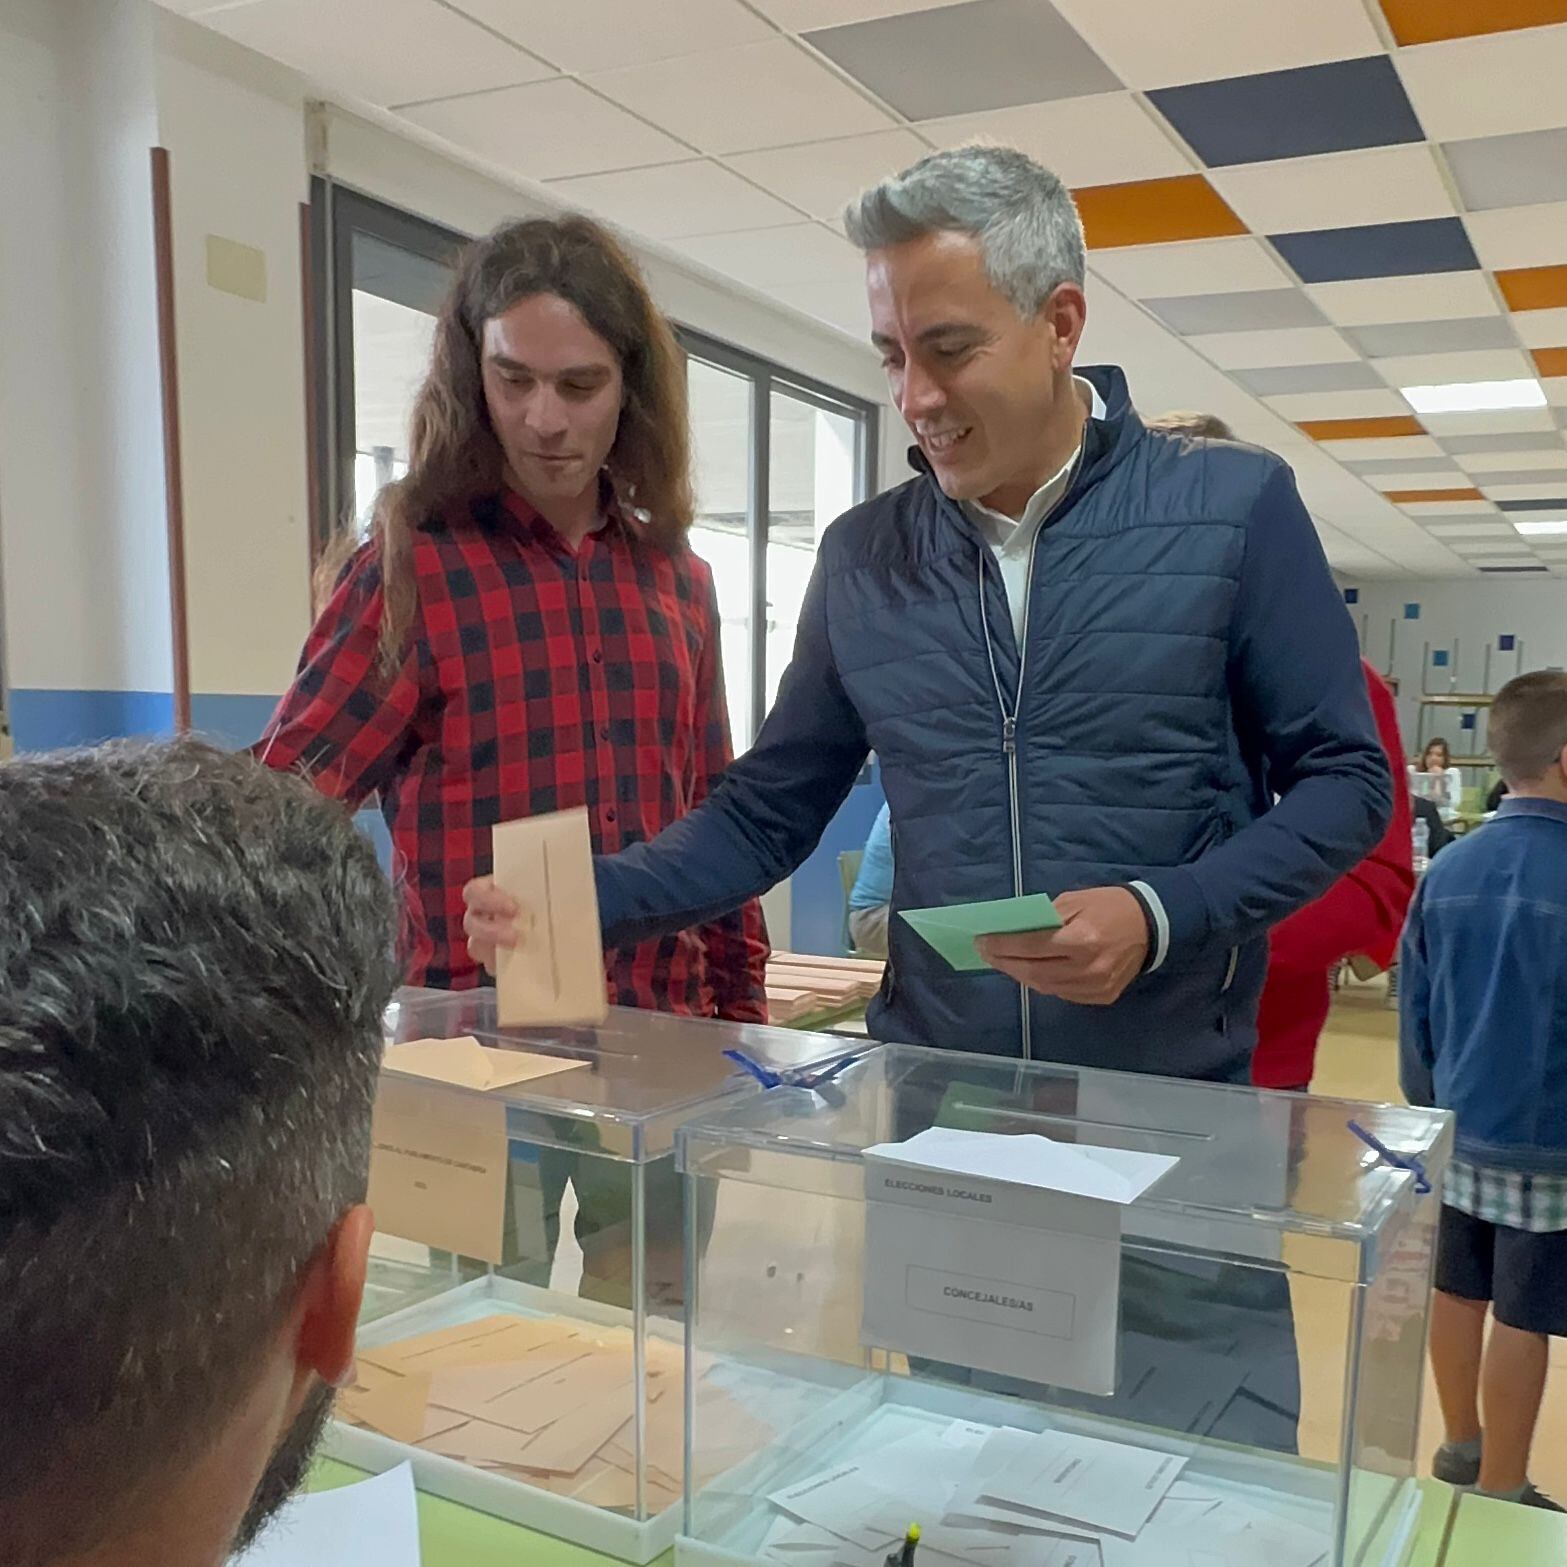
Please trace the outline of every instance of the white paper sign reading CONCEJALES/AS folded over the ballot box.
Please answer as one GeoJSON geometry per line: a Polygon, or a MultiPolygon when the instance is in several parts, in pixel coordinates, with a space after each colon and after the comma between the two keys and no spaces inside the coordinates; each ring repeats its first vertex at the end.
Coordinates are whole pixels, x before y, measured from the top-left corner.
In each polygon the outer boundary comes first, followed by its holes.
{"type": "Polygon", "coordinates": [[[942,1127],[867,1149],[862,1338],[1113,1393],[1120,1210],[1174,1164],[942,1127]]]}

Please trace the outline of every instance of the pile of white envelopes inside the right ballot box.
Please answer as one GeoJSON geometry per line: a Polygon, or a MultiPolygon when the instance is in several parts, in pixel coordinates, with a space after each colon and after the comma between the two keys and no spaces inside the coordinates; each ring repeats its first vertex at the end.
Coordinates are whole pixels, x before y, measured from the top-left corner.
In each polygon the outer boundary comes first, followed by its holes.
{"type": "Polygon", "coordinates": [[[784,1567],[1319,1567],[1324,1533],[1185,1476],[1178,1454],[1064,1431],[954,1421],[768,1500],[784,1567]]]}

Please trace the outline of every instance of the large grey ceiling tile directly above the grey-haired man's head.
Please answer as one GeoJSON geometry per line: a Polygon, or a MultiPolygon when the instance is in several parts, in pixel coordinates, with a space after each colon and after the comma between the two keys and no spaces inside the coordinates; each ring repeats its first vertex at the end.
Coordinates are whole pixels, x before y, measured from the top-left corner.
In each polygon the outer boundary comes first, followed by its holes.
{"type": "Polygon", "coordinates": [[[909,119],[1114,92],[1120,78],[1037,0],[968,0],[805,34],[909,119]]]}

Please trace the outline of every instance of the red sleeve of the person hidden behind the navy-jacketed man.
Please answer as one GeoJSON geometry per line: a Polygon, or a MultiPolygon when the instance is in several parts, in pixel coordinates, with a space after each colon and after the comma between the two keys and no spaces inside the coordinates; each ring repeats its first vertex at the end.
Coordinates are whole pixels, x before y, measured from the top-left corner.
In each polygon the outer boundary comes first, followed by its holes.
{"type": "Polygon", "coordinates": [[[1404,785],[1404,743],[1388,683],[1362,660],[1377,735],[1393,769],[1393,821],[1382,841],[1329,890],[1274,926],[1272,968],[1326,973],[1340,957],[1365,953],[1387,968],[1398,950],[1404,915],[1415,893],[1410,852],[1410,805],[1404,785]]]}

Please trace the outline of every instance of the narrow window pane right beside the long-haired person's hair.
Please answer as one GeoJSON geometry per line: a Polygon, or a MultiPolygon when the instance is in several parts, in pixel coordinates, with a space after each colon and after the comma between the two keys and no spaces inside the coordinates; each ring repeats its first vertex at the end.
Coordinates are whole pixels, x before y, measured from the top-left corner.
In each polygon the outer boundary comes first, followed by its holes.
{"type": "Polygon", "coordinates": [[[724,683],[735,751],[752,738],[751,715],[751,398],[746,376],[688,360],[696,525],[691,548],[713,567],[722,621],[724,683]]]}

